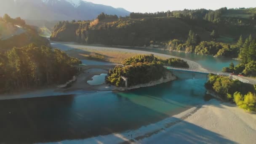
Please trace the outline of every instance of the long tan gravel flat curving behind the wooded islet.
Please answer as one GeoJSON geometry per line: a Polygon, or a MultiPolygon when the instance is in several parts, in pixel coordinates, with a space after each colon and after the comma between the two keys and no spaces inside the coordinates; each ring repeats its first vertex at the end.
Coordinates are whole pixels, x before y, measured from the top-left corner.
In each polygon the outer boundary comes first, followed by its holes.
{"type": "Polygon", "coordinates": [[[191,68],[191,69],[207,71],[207,69],[204,69],[200,64],[196,63],[195,61],[180,58],[177,56],[162,54],[162,53],[155,53],[155,52],[150,52],[150,51],[140,51],[140,50],[134,50],[134,49],[125,49],[125,48],[112,48],[112,47],[107,47],[107,46],[103,46],[103,45],[102,46],[81,45],[81,44],[77,44],[77,43],[67,43],[67,42],[52,41],[51,44],[53,45],[53,47],[57,47],[57,48],[61,49],[62,51],[65,51],[66,53],[68,53],[70,56],[77,57],[79,59],[82,59],[83,55],[88,55],[90,53],[92,53],[92,54],[96,53],[98,55],[104,56],[105,61],[120,64],[120,63],[122,63],[122,60],[130,58],[131,56],[136,56],[138,54],[153,54],[153,55],[163,58],[163,59],[179,58],[184,61],[187,61],[187,64],[189,64],[189,68],[191,68]]]}

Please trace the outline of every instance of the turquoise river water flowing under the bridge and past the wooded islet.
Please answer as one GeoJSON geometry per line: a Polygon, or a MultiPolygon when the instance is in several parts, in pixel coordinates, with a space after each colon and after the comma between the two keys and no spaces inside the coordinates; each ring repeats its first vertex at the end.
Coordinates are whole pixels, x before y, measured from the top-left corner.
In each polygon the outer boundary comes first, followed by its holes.
{"type": "MultiPolygon", "coordinates": [[[[174,55],[191,60],[194,57],[184,53],[174,55]]],[[[200,57],[203,60],[196,57],[194,60],[213,70],[219,70],[231,61],[200,57]],[[212,65],[214,61],[219,62],[212,65]]],[[[127,92],[86,92],[1,100],[0,143],[86,139],[134,130],[204,103],[206,75],[174,74],[178,80],[127,92]]]]}

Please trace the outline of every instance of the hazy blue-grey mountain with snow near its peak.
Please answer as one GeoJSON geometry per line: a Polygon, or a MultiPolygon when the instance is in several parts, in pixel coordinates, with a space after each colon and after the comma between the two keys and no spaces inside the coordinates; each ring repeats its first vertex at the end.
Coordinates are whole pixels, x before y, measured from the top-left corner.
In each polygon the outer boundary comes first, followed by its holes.
{"type": "Polygon", "coordinates": [[[123,8],[83,0],[0,0],[0,3],[0,16],[8,13],[11,17],[32,20],[89,20],[102,12],[117,16],[130,14],[123,8]]]}

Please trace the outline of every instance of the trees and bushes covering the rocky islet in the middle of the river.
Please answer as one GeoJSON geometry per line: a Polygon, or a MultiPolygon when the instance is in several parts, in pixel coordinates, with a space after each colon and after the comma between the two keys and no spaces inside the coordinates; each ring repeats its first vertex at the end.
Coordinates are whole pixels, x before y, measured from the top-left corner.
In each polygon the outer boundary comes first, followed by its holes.
{"type": "Polygon", "coordinates": [[[128,86],[149,83],[150,81],[159,80],[165,77],[167,69],[163,65],[173,67],[189,67],[187,62],[181,59],[157,59],[154,55],[138,55],[125,59],[124,67],[115,67],[108,73],[107,83],[119,86],[125,86],[121,78],[128,77],[128,86]]]}

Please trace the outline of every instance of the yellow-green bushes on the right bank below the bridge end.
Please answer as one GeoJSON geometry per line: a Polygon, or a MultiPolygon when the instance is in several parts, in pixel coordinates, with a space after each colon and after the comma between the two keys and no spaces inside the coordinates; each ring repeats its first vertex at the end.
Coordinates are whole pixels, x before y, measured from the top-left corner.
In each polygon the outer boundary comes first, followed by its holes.
{"type": "Polygon", "coordinates": [[[253,94],[256,91],[253,85],[218,75],[210,74],[208,77],[205,88],[215,91],[223,99],[235,101],[240,108],[256,111],[256,96],[253,94]]]}

